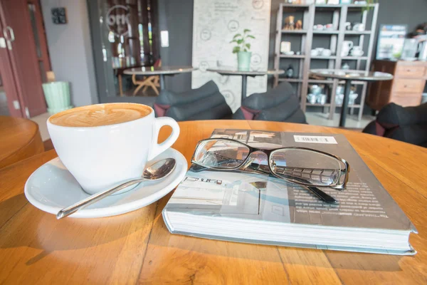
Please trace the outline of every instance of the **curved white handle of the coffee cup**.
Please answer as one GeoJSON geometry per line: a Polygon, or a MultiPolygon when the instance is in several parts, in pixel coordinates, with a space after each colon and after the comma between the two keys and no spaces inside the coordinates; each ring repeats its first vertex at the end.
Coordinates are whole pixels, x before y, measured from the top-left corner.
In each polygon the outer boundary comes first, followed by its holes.
{"type": "Polygon", "coordinates": [[[171,147],[178,138],[178,136],[179,125],[178,123],[176,123],[176,120],[169,117],[154,118],[154,134],[152,142],[153,147],[152,150],[149,152],[148,160],[152,160],[154,157],[157,157],[157,155],[161,154],[169,147],[171,147]],[[169,135],[169,138],[164,140],[164,142],[157,143],[157,139],[159,138],[159,130],[164,125],[169,125],[172,128],[172,134],[169,135]]]}

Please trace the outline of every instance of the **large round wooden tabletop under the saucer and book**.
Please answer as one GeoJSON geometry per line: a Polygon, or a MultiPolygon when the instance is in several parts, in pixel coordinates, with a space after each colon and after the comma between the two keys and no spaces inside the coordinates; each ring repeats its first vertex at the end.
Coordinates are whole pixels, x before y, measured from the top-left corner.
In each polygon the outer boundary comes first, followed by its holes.
{"type": "MultiPolygon", "coordinates": [[[[61,219],[26,201],[31,172],[52,150],[0,170],[0,284],[426,284],[427,149],[312,125],[244,120],[183,122],[174,144],[189,161],[215,128],[343,133],[415,224],[413,257],[239,244],[169,234],[170,194],[135,212],[61,219]]],[[[162,138],[166,138],[166,131],[162,138]]]]}

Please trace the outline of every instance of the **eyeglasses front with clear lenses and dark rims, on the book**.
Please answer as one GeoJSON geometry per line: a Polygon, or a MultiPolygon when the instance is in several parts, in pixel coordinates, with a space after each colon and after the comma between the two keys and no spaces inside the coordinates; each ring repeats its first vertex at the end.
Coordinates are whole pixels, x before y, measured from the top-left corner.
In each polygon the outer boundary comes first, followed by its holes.
{"type": "Polygon", "coordinates": [[[226,138],[199,141],[191,162],[214,170],[249,168],[298,185],[337,190],[343,190],[347,185],[350,169],[347,161],[320,150],[305,147],[255,148],[226,138]],[[267,165],[260,153],[267,155],[267,165]]]}

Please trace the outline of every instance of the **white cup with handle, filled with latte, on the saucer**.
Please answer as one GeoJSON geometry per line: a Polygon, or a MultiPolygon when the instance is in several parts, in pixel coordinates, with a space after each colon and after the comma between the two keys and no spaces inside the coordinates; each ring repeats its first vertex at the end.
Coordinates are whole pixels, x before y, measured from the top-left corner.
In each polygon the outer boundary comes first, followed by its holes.
{"type": "Polygon", "coordinates": [[[147,162],[171,147],[179,135],[174,119],[155,118],[151,107],[135,103],[65,110],[51,116],[46,125],[60,161],[90,195],[141,177],[147,162]],[[172,133],[158,144],[164,125],[172,133]]]}

